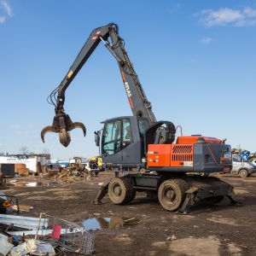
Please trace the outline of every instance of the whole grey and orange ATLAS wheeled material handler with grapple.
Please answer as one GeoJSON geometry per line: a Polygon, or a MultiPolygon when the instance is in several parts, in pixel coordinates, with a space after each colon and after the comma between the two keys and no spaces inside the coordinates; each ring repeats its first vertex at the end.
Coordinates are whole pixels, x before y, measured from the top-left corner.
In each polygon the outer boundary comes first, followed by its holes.
{"type": "Polygon", "coordinates": [[[74,128],[81,128],[85,136],[84,124],[73,123],[64,111],[65,91],[101,42],[118,62],[133,115],[105,120],[102,130],[95,132],[96,146],[103,169],[131,172],[103,184],[95,202],[100,203],[108,193],[114,204],[126,204],[135,199],[137,191],[143,191],[158,196],[160,205],[167,211],[186,212],[195,203],[214,204],[225,196],[231,204],[237,204],[234,188],[229,183],[218,177],[201,175],[230,172],[230,145],[225,144],[225,139],[215,137],[176,137],[177,128],[171,121],[155,119],[151,103],[125,50],[124,40],[119,36],[119,27],[114,23],[91,32],[67,75],[50,94],[55,117],[53,124],[41,132],[43,142],[49,131],[59,133],[65,147],[71,141],[70,131],[74,128]]]}

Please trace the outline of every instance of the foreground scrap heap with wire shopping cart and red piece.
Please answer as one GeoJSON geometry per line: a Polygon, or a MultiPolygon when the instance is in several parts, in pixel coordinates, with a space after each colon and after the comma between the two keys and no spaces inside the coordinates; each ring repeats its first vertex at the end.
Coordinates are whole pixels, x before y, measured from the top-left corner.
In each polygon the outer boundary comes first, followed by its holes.
{"type": "Polygon", "coordinates": [[[0,255],[91,254],[94,242],[95,236],[61,218],[44,213],[39,218],[0,214],[0,255]]]}

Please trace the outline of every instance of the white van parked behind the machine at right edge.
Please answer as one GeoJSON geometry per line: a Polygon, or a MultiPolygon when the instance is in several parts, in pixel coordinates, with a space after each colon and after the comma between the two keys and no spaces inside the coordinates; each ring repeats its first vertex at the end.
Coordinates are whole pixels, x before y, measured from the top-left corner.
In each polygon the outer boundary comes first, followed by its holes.
{"type": "Polygon", "coordinates": [[[253,172],[256,172],[256,168],[253,163],[245,160],[240,154],[232,154],[232,170],[230,174],[237,174],[240,177],[249,177],[253,172]]]}

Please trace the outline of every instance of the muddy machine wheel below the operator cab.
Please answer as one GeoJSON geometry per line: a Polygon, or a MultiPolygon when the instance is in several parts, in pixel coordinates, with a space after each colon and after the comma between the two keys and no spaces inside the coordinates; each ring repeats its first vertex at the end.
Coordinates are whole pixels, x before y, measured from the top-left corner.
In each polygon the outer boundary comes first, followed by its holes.
{"type": "Polygon", "coordinates": [[[129,179],[114,177],[108,185],[108,195],[114,204],[120,205],[131,202],[136,195],[136,189],[132,189],[129,179]]]}

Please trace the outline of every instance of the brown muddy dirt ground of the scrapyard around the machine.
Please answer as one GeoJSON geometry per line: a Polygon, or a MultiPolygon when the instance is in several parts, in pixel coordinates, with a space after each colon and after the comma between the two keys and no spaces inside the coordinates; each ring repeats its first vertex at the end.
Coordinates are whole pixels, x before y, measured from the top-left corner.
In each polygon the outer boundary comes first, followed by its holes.
{"type": "MultiPolygon", "coordinates": [[[[38,186],[11,186],[5,195],[15,195],[20,205],[33,207],[20,216],[39,217],[40,212],[83,226],[90,218],[108,218],[109,223],[87,230],[95,235],[95,255],[256,255],[256,175],[241,178],[220,175],[235,187],[241,207],[224,201],[212,206],[194,206],[189,214],[166,212],[159,201],[137,193],[134,201],[114,205],[108,195],[103,204],[91,204],[99,183],[114,177],[100,172],[98,177],[74,183],[38,186]],[[124,218],[138,222],[123,225],[124,218]]],[[[15,177],[11,180],[42,182],[49,177],[15,177]]],[[[51,179],[52,182],[52,179],[51,179]]]]}

